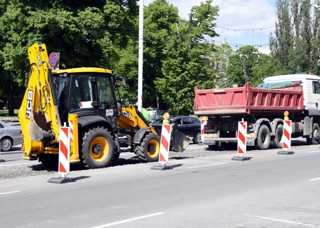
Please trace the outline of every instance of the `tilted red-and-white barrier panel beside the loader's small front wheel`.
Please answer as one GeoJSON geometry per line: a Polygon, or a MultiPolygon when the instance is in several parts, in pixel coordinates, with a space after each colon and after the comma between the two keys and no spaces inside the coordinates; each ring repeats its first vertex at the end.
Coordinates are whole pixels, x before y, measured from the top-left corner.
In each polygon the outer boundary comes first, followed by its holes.
{"type": "Polygon", "coordinates": [[[172,130],[171,124],[162,125],[160,154],[159,154],[159,162],[161,163],[162,166],[164,166],[164,164],[166,164],[169,160],[171,130],[172,130]]]}

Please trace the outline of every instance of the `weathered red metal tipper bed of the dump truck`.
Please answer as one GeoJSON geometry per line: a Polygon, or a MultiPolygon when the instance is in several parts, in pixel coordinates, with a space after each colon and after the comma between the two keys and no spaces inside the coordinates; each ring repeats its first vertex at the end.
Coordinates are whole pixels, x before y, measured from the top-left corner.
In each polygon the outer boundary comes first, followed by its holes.
{"type": "Polygon", "coordinates": [[[286,89],[240,88],[195,90],[193,111],[198,116],[225,114],[279,113],[304,110],[301,87],[286,89]]]}

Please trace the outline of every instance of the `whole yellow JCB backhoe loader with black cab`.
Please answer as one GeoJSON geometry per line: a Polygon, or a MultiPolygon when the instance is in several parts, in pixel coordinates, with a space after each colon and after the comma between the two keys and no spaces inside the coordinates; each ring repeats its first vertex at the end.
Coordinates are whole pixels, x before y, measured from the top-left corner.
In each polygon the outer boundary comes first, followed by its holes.
{"type": "MultiPolygon", "coordinates": [[[[158,161],[160,137],[134,106],[123,108],[122,99],[116,100],[117,79],[110,70],[52,70],[44,44],[32,45],[28,55],[27,89],[18,115],[24,159],[58,166],[59,128],[66,122],[73,131],[70,163],[108,167],[120,152],[129,151],[143,161],[158,161]]],[[[190,142],[183,136],[180,148],[190,142]]]]}

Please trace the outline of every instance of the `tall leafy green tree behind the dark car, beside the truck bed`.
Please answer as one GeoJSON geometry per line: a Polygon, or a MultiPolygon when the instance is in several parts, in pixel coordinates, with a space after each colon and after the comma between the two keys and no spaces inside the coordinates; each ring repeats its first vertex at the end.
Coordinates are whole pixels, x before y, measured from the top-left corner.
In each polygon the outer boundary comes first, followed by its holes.
{"type": "Polygon", "coordinates": [[[178,20],[181,43],[172,38],[165,47],[162,60],[163,77],[155,81],[164,101],[170,104],[170,111],[189,114],[194,100],[194,86],[202,88],[215,84],[214,71],[206,65],[202,57],[208,57],[214,46],[203,42],[204,35],[217,36],[213,30],[218,15],[218,6],[211,6],[212,0],[193,6],[190,20],[178,20]]]}

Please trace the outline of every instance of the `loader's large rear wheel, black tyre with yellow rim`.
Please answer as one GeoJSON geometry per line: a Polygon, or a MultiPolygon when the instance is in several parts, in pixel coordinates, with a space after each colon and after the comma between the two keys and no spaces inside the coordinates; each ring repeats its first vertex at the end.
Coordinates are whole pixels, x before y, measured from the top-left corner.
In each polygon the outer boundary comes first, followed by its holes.
{"type": "Polygon", "coordinates": [[[109,167],[114,158],[114,140],[107,129],[90,129],[82,140],[82,159],[85,167],[109,167]]]}

